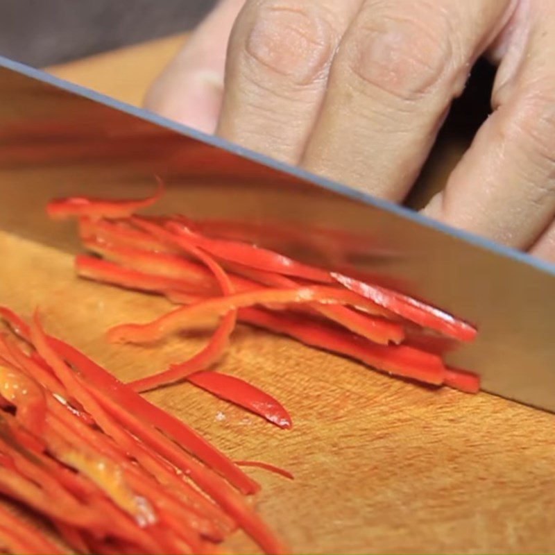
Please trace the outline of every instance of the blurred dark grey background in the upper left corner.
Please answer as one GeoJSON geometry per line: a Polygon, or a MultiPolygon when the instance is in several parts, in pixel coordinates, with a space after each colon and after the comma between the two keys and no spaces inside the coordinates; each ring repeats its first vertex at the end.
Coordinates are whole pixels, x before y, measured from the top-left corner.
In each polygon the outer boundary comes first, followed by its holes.
{"type": "Polygon", "coordinates": [[[216,0],[0,0],[0,54],[56,65],[193,28],[216,0]]]}

